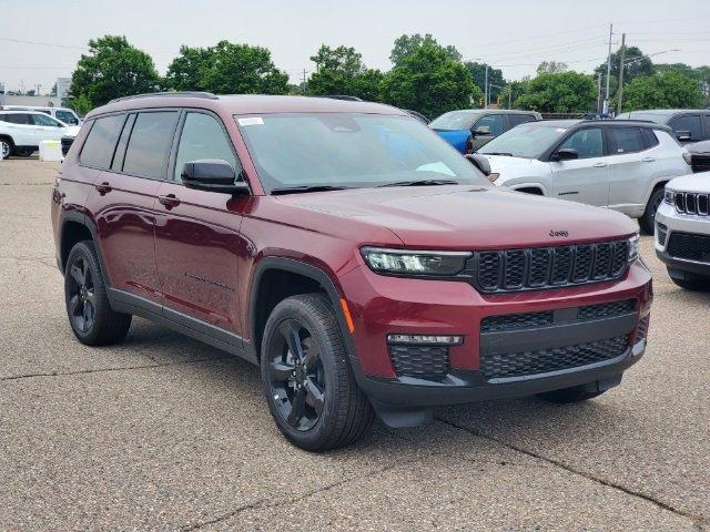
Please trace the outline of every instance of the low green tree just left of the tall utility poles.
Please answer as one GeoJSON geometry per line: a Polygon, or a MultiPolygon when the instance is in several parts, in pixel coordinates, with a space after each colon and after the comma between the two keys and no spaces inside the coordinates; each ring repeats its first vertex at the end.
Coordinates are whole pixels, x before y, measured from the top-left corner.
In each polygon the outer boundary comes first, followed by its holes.
{"type": "Polygon", "coordinates": [[[547,113],[580,113],[594,109],[596,100],[594,78],[570,71],[534,78],[515,106],[547,113]]]}

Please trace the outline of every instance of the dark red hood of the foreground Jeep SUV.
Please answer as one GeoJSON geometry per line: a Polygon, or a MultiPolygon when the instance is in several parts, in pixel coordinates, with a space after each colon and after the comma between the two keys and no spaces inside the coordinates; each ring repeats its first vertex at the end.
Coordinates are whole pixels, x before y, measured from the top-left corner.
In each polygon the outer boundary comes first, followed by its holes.
{"type": "MultiPolygon", "coordinates": [[[[413,248],[548,246],[611,239],[637,231],[627,216],[616,212],[496,186],[356,188],[293,194],[280,201],[387,227],[413,248]],[[550,236],[550,232],[566,232],[568,236],[550,236]]],[[[320,223],[332,228],[335,222],[320,223]]]]}

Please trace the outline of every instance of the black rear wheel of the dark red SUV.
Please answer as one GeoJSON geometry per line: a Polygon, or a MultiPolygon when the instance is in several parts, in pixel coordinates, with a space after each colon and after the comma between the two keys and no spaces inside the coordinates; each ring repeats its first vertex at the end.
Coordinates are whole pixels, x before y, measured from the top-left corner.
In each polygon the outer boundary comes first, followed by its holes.
{"type": "Polygon", "coordinates": [[[69,253],[64,298],[69,323],[82,344],[105,346],[125,338],[132,316],[111,308],[99,258],[90,241],[80,242],[69,253]]]}

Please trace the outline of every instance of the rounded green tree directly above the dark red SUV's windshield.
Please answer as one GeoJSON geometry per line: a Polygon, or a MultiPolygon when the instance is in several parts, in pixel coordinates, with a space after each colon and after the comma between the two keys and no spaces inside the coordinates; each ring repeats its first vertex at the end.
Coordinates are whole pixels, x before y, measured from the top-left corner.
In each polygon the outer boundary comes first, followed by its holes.
{"type": "Polygon", "coordinates": [[[387,103],[427,116],[468,108],[483,98],[468,69],[433,44],[412,52],[385,76],[383,95],[387,103]]]}

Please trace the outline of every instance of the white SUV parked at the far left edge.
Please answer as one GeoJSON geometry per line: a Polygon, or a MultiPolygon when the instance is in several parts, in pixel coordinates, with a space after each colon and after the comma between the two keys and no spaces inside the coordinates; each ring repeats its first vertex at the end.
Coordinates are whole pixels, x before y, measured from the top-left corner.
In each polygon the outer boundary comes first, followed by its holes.
{"type": "Polygon", "coordinates": [[[40,142],[77,136],[79,129],[37,111],[0,111],[0,157],[30,156],[40,142]]]}

